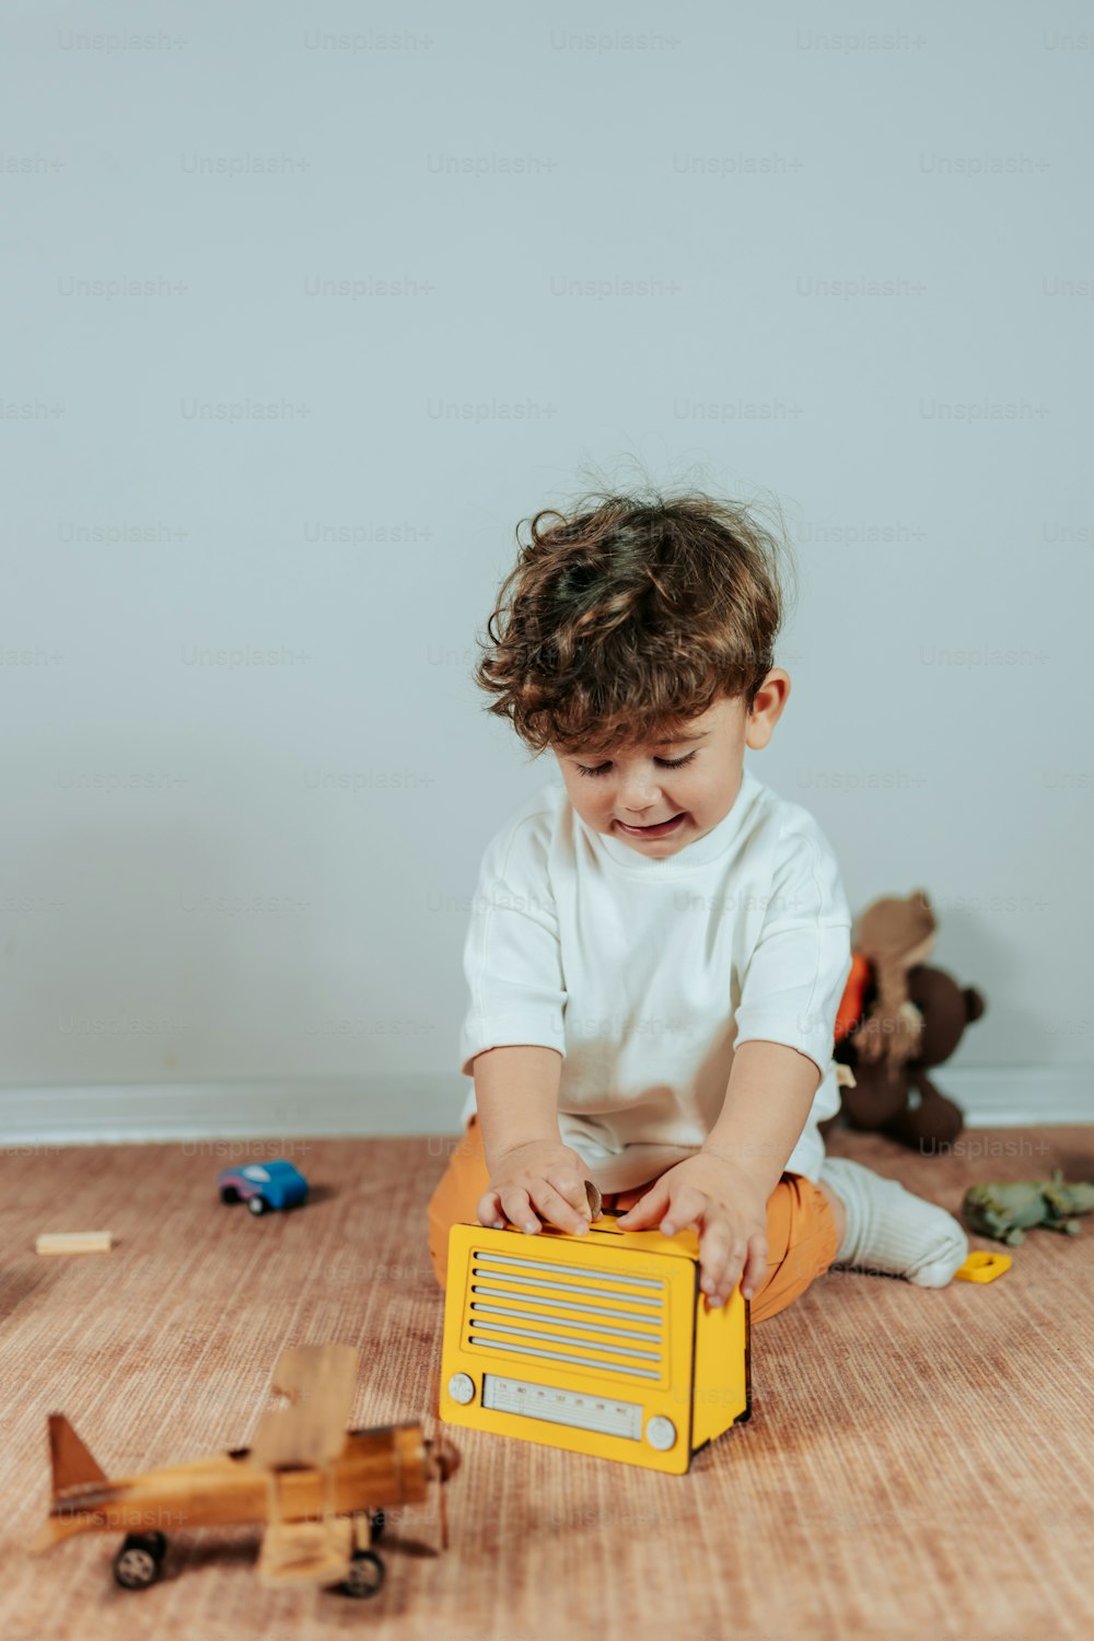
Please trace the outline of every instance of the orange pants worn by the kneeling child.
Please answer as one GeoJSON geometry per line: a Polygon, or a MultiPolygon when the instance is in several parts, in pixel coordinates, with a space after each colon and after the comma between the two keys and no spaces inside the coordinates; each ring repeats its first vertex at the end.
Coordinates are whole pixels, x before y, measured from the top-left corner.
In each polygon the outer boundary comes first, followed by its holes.
{"type": "MultiPolygon", "coordinates": [[[[648,1180],[633,1190],[605,1195],[604,1213],[625,1213],[651,1185],[653,1180],[648,1180]]],[[[489,1186],[482,1129],[472,1116],[463,1139],[453,1142],[448,1168],[430,1198],[430,1259],[441,1288],[448,1280],[449,1227],[479,1223],[476,1209],[489,1186]]],[[[792,1305],[810,1282],[823,1277],[838,1246],[835,1214],[825,1193],[800,1173],[784,1173],[768,1198],[768,1273],[751,1298],[751,1321],[766,1321],[792,1305]]]]}

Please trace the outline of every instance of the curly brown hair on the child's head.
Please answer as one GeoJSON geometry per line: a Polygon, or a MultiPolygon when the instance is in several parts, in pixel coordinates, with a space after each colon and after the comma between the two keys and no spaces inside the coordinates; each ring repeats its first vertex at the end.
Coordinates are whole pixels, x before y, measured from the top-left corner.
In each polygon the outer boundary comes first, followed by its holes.
{"type": "Polygon", "coordinates": [[[474,670],[533,753],[669,740],[774,666],[784,540],[702,491],[604,491],[545,507],[504,579],[474,670]]]}

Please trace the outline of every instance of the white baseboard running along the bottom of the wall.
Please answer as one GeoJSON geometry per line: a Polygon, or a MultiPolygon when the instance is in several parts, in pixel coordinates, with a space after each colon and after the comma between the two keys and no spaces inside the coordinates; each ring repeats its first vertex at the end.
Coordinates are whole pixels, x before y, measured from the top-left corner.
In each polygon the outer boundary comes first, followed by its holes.
{"type": "MultiPolygon", "coordinates": [[[[935,1083],[968,1127],[1094,1122],[1094,1067],[940,1067],[935,1083]]],[[[0,1088],[0,1149],[458,1134],[469,1090],[448,1073],[0,1088]]]]}

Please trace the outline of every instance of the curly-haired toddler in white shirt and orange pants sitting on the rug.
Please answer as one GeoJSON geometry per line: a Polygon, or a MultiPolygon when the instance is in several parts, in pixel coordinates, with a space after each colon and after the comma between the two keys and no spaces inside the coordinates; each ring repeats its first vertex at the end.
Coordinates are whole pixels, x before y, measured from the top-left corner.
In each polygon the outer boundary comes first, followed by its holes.
{"type": "Polygon", "coordinates": [[[482,858],[438,1280],[458,1221],[581,1236],[592,1180],[622,1229],[694,1227],[709,1305],[740,1282],[753,1321],[833,1264],[945,1287],[956,1219],[817,1129],[851,917],[814,817],[745,766],[791,691],[777,540],[702,494],[597,494],[530,533],[476,679],[561,784],[482,858]]]}

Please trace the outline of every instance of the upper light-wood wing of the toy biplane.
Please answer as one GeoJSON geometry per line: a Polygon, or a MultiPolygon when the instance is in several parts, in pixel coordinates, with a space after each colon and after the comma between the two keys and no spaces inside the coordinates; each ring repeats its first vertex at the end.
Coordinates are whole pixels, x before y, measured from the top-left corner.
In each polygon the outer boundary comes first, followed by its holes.
{"type": "Polygon", "coordinates": [[[261,1415],[251,1464],[331,1464],[346,1446],[346,1423],[358,1380],[359,1352],[351,1344],[289,1346],[274,1369],[274,1390],[287,1408],[261,1415]]]}

